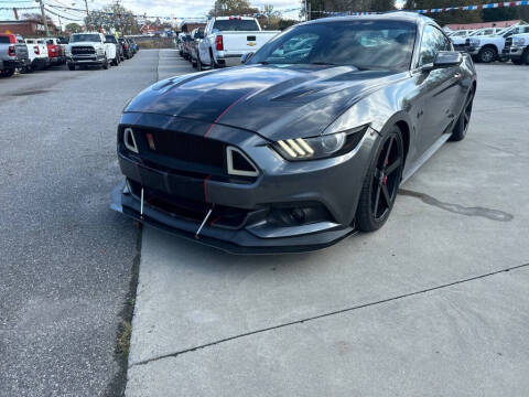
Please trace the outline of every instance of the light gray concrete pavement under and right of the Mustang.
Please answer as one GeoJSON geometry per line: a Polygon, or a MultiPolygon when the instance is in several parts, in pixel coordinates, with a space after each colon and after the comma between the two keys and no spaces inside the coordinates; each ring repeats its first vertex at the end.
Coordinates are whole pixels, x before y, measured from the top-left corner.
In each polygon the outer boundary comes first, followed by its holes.
{"type": "Polygon", "coordinates": [[[478,73],[467,139],[377,233],[251,257],[145,228],[127,396],[523,395],[529,83],[478,73]]]}

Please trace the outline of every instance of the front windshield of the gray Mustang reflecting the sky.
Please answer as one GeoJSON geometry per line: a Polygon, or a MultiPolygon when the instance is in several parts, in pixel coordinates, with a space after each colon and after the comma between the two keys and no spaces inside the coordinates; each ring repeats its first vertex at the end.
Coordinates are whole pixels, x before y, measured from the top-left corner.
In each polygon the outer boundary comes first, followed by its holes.
{"type": "Polygon", "coordinates": [[[333,64],[404,71],[411,63],[415,25],[401,21],[341,21],[294,26],[273,37],[249,64],[333,64]]]}

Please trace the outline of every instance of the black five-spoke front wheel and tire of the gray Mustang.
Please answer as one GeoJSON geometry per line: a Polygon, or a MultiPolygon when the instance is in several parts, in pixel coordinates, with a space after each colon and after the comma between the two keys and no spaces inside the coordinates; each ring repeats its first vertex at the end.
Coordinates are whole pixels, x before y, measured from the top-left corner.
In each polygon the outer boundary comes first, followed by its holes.
{"type": "Polygon", "coordinates": [[[388,221],[399,190],[403,164],[402,133],[393,126],[379,140],[361,186],[356,210],[357,227],[361,232],[375,232],[388,221]]]}

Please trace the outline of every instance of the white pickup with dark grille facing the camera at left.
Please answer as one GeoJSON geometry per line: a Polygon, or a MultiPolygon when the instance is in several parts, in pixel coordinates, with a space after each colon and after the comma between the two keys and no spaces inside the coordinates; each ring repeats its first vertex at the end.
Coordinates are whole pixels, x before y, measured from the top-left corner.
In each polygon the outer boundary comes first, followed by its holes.
{"type": "Polygon", "coordinates": [[[116,44],[107,43],[105,35],[98,32],[72,34],[66,46],[66,62],[71,71],[84,65],[98,65],[108,69],[116,57],[116,44]]]}

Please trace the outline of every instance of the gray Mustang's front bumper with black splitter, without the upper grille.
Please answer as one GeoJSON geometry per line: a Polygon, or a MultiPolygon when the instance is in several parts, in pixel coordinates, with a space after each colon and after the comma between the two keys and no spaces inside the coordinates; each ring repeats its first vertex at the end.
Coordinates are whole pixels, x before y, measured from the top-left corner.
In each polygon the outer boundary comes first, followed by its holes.
{"type": "MultiPolygon", "coordinates": [[[[172,125],[175,130],[201,135],[208,126],[160,115],[143,116],[138,119],[138,115],[125,114],[121,128],[172,125]]],[[[356,149],[338,158],[288,162],[257,135],[216,125],[207,139],[222,138],[240,148],[261,171],[255,181],[245,183],[216,179],[196,170],[168,169],[169,162],[158,167],[152,155],[141,159],[118,150],[120,168],[129,184],[115,190],[111,207],[231,253],[323,248],[355,233],[356,206],[377,137],[377,132],[368,130],[356,149]],[[143,213],[141,189],[145,193],[143,213]],[[195,238],[209,210],[212,215],[195,238]],[[309,215],[298,223],[290,218],[283,222],[283,216],[298,210],[309,215]],[[311,217],[311,211],[317,215],[311,217]]]]}

